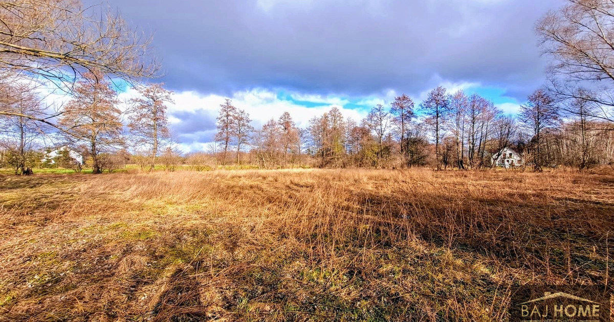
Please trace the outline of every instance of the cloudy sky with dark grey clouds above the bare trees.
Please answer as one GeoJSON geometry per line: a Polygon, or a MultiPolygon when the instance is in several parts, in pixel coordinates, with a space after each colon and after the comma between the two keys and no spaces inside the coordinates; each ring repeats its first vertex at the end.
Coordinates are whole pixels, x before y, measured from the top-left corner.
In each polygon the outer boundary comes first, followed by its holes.
{"type": "MultiPolygon", "coordinates": [[[[360,119],[435,86],[479,93],[505,112],[543,83],[533,28],[561,0],[108,0],[153,47],[173,90],[184,150],[211,141],[223,98],[260,125],[332,105],[360,119]]],[[[87,0],[86,4],[97,1],[87,0]]],[[[125,93],[130,95],[130,91],[125,93]]]]}

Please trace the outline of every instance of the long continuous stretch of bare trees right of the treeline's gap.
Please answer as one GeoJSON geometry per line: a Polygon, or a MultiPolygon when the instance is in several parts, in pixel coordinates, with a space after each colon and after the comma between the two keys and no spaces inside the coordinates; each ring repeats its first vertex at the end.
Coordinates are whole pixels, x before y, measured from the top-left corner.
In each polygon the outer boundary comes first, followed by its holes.
{"type": "Polygon", "coordinates": [[[363,120],[344,118],[332,107],[308,128],[298,128],[288,112],[253,128],[249,115],[227,100],[217,118],[217,145],[188,155],[187,162],[198,156],[209,166],[483,169],[511,148],[523,156],[523,169],[611,164],[612,125],[589,115],[588,101],[577,99],[565,109],[559,104],[537,90],[514,117],[477,94],[438,87],[419,105],[398,96],[363,120]]]}

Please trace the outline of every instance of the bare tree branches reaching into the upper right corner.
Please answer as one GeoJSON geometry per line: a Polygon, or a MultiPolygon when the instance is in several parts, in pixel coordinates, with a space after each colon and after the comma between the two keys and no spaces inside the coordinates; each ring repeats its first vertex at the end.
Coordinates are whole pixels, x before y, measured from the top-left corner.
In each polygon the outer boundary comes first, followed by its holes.
{"type": "Polygon", "coordinates": [[[536,31],[543,53],[552,59],[550,90],[562,99],[597,103],[590,116],[614,121],[614,2],[567,0],[546,14],[536,31]],[[578,91],[578,86],[596,90],[578,91]]]}

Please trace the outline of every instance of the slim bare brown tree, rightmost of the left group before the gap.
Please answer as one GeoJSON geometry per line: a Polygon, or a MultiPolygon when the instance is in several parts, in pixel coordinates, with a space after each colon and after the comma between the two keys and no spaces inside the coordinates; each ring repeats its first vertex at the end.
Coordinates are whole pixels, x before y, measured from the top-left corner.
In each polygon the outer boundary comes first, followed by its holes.
{"type": "Polygon", "coordinates": [[[164,88],[164,84],[150,84],[138,87],[141,97],[131,99],[134,104],[131,109],[128,127],[136,142],[151,147],[151,168],[155,169],[155,158],[158,155],[158,144],[169,139],[166,104],[173,103],[173,92],[164,88]]]}

